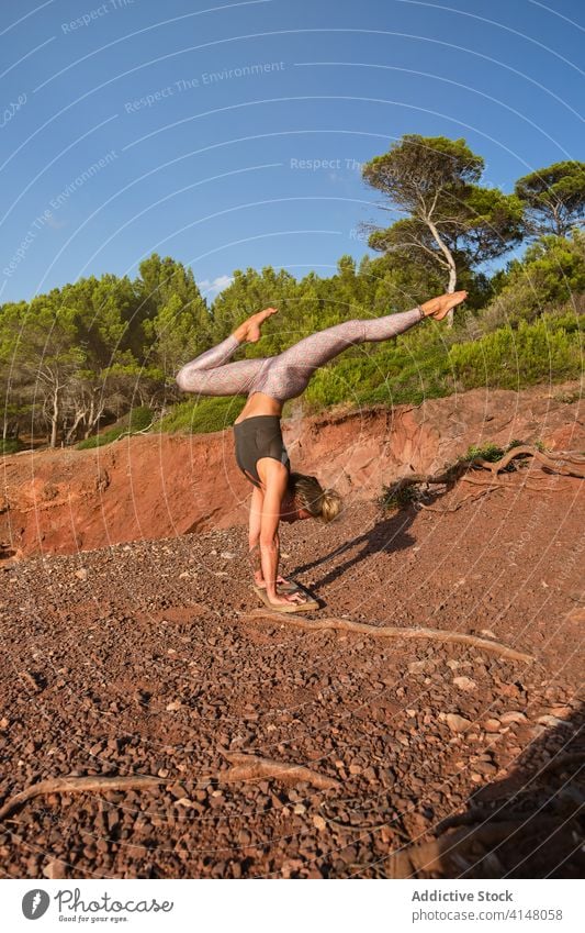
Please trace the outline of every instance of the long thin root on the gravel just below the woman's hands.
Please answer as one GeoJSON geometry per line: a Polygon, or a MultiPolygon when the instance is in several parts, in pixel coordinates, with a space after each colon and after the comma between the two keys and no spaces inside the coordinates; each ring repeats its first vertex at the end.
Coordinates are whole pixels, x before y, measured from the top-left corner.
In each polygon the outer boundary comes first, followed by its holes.
{"type": "Polygon", "coordinates": [[[302,619],[294,612],[270,612],[268,609],[254,609],[251,612],[240,613],[243,619],[269,619],[279,624],[296,625],[300,629],[318,632],[326,629],[339,630],[341,632],[355,632],[358,635],[373,635],[378,638],[429,638],[434,642],[457,642],[462,645],[472,645],[475,648],[510,660],[535,660],[533,655],[518,652],[502,642],[493,642],[490,638],[480,638],[476,635],[466,635],[463,632],[443,632],[440,629],[397,629],[393,625],[368,625],[364,622],[353,622],[350,619],[302,619]]]}

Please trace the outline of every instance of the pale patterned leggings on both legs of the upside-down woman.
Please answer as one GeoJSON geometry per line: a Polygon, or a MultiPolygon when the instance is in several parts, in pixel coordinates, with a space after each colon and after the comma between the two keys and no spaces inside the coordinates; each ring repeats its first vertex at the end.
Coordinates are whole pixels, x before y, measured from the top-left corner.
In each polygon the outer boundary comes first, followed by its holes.
{"type": "Polygon", "coordinates": [[[278,356],[227,363],[240,342],[233,334],[205,351],[177,374],[184,392],[203,396],[236,396],[263,392],[279,401],[294,399],[306,388],[313,373],[348,346],[367,341],[387,341],[424,319],[420,308],[373,318],[344,321],[304,337],[278,356]]]}

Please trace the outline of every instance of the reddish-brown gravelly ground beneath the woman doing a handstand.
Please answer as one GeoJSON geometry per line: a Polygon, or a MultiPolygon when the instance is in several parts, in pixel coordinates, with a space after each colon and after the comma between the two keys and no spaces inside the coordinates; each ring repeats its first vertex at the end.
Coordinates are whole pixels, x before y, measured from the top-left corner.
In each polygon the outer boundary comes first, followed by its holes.
{"type": "Polygon", "coordinates": [[[0,806],[58,776],[160,780],[29,800],[0,825],[4,876],[582,877],[583,484],[538,481],[281,533],[308,619],[533,660],[250,615],[241,526],[4,562],[0,806]],[[229,779],[234,752],[311,773],[229,779]],[[398,857],[450,825],[477,831],[398,857]]]}

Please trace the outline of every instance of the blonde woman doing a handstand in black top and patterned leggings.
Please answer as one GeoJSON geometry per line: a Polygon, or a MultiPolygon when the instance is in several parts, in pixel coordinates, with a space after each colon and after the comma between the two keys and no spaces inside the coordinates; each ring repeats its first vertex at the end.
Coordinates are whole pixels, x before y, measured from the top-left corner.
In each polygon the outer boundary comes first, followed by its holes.
{"type": "Polygon", "coordinates": [[[234,424],[236,460],[254,486],[249,547],[250,551],[257,547],[260,551],[255,582],[266,587],[267,598],[275,609],[291,609],[291,603],[304,601],[296,592],[277,591],[277,586],[288,586],[288,580],[278,574],[279,522],[311,518],[330,522],[341,508],[340,496],[334,489],[323,489],[314,476],[291,471],[280,425],[284,402],[300,396],[313,373],[348,346],[367,341],[386,341],[425,318],[440,321],[466,297],[466,291],[455,291],[431,298],[410,311],[364,321],[344,321],[304,337],[278,356],[228,363],[238,346],[260,338],[261,324],[277,313],[275,308],[266,308],[252,314],[217,346],[187,363],[177,374],[177,384],[185,392],[248,396],[234,424]]]}

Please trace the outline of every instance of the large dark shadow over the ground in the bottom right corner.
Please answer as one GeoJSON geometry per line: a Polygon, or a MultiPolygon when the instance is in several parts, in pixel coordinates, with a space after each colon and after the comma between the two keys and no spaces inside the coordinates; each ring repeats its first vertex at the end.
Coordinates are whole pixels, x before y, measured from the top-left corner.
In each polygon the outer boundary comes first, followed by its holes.
{"type": "Polygon", "coordinates": [[[525,748],[513,771],[480,787],[437,838],[406,848],[403,878],[583,878],[585,706],[525,748]]]}

